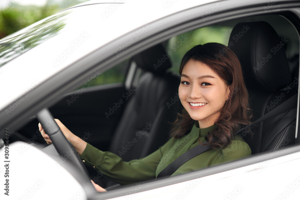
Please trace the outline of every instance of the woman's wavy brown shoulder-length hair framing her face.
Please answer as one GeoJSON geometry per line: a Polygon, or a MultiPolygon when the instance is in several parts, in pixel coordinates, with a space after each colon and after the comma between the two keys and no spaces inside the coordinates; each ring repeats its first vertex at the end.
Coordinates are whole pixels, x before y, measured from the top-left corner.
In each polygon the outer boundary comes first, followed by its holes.
{"type": "MultiPolygon", "coordinates": [[[[229,98],[220,109],[220,116],[214,122],[217,128],[205,136],[206,143],[211,148],[227,147],[232,136],[241,127],[251,124],[253,111],[249,108],[249,97],[241,64],[235,53],[227,46],[220,43],[206,43],[194,46],[182,58],[179,74],[189,60],[206,64],[216,73],[226,85],[229,86],[229,98]]],[[[171,129],[171,137],[181,138],[188,134],[197,122],[193,120],[183,108],[182,113],[177,113],[177,119],[171,129]]],[[[250,131],[248,133],[252,134],[250,131]]]]}

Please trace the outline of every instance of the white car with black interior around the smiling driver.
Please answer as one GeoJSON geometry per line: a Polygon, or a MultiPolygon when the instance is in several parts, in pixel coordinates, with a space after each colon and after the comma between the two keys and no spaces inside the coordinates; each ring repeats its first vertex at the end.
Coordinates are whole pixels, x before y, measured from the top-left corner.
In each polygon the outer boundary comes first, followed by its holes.
{"type": "Polygon", "coordinates": [[[299,0],[91,0],[1,39],[1,199],[299,199],[299,31],[299,0]],[[270,113],[240,133],[252,156],[115,186],[63,139],[66,154],[46,145],[35,115],[48,107],[125,161],[155,151],[181,111],[181,58],[207,42],[238,56],[253,121],[270,113]]]}

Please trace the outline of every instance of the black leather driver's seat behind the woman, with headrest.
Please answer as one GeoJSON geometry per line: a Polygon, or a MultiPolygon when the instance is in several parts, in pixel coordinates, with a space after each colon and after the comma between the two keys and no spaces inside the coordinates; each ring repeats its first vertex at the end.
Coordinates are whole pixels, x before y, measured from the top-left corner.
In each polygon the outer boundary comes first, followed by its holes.
{"type": "MultiPolygon", "coordinates": [[[[297,94],[283,46],[267,22],[239,23],[233,28],[229,44],[241,62],[249,92],[253,121],[297,94]]],[[[238,88],[237,88],[238,89],[238,88]]],[[[274,116],[252,127],[253,139],[246,136],[252,154],[282,149],[295,143],[296,109],[274,116]]]]}

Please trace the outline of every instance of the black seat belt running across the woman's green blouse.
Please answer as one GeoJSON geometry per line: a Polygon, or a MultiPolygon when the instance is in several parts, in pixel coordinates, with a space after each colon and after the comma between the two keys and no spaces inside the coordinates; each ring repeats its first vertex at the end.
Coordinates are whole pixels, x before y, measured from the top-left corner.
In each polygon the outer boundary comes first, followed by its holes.
{"type": "MultiPolygon", "coordinates": [[[[262,122],[268,118],[274,117],[276,115],[279,115],[281,113],[287,112],[289,110],[292,110],[294,108],[297,108],[297,101],[298,101],[298,94],[293,95],[288,100],[262,116],[261,118],[254,121],[252,124],[248,125],[247,127],[244,127],[240,130],[238,130],[235,134],[238,134],[245,130],[246,128],[258,124],[259,122],[262,122]]],[[[157,178],[163,177],[163,176],[171,176],[176,170],[182,166],[184,163],[186,163],[188,160],[192,159],[193,157],[196,157],[199,154],[202,154],[203,152],[210,149],[210,146],[203,146],[201,144],[197,145],[196,147],[191,148],[190,150],[186,151],[184,154],[179,156],[176,160],[174,160],[170,165],[168,165],[165,169],[163,169],[157,176],[157,178]]]]}

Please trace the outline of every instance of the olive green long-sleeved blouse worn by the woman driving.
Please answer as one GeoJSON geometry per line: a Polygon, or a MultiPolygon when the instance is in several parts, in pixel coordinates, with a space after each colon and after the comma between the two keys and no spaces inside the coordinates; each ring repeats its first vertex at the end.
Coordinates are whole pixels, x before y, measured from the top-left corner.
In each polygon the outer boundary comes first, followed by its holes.
{"type": "MultiPolygon", "coordinates": [[[[90,144],[87,144],[81,159],[84,160],[86,165],[98,169],[112,181],[122,185],[154,179],[176,158],[187,150],[199,145],[198,139],[201,142],[205,142],[204,136],[214,128],[216,128],[216,125],[200,129],[197,122],[186,136],[180,139],[171,138],[152,154],[129,162],[124,162],[116,154],[101,151],[90,144]]],[[[240,136],[234,136],[230,145],[226,148],[209,149],[199,154],[184,163],[171,176],[226,163],[250,155],[251,149],[248,144],[240,136]]]]}

